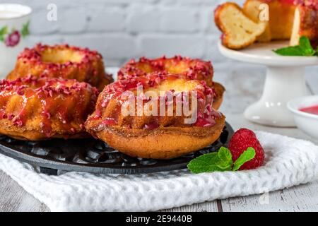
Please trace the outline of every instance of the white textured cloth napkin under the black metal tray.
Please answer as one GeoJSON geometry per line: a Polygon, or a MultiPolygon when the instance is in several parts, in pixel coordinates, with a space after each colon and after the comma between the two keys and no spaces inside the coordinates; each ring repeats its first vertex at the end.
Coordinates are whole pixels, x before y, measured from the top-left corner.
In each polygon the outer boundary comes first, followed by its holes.
{"type": "Polygon", "coordinates": [[[266,164],[254,170],[192,174],[187,169],[152,174],[40,174],[0,155],[0,169],[52,211],[146,211],[216,198],[247,196],[317,178],[318,147],[308,141],[257,132],[266,164]]]}

